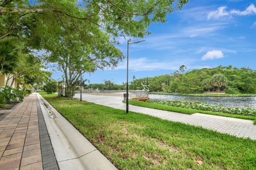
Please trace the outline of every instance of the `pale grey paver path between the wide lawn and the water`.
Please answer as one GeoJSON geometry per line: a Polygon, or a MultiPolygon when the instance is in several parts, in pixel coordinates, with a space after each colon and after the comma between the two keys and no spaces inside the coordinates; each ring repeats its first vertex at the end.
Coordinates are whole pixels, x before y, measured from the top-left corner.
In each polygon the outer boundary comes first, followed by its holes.
{"type": "MultiPolygon", "coordinates": [[[[80,95],[76,94],[75,97],[79,98],[80,95]]],[[[122,103],[122,97],[83,94],[82,99],[95,104],[117,109],[124,110],[126,108],[126,105],[122,103]]],[[[164,120],[202,126],[205,129],[211,129],[220,133],[227,133],[230,135],[235,135],[236,137],[251,138],[256,140],[256,126],[253,125],[253,121],[250,120],[206,114],[187,115],[132,105],[129,106],[129,111],[163,118],[164,120]]]]}

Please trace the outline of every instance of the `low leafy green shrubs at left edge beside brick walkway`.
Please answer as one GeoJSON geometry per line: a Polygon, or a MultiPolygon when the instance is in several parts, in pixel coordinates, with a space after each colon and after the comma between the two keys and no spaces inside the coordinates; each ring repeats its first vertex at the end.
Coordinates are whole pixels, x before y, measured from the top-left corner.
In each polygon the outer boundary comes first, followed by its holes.
{"type": "Polygon", "coordinates": [[[22,101],[24,93],[20,89],[14,89],[10,86],[0,87],[0,104],[22,101]]]}

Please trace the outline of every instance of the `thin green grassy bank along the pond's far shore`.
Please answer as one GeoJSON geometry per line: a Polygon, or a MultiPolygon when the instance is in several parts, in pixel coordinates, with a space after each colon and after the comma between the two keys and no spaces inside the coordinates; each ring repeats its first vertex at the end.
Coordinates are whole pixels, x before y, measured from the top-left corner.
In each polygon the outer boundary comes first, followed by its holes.
{"type": "Polygon", "coordinates": [[[175,94],[171,92],[149,92],[149,94],[156,94],[156,95],[182,95],[182,96],[199,96],[199,97],[253,97],[256,94],[175,94]]]}

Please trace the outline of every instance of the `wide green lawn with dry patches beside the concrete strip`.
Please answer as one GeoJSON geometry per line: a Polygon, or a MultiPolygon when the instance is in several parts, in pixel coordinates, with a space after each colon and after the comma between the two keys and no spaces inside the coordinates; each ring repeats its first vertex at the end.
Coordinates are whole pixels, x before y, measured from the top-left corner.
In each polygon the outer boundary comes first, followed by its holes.
{"type": "Polygon", "coordinates": [[[42,95],[119,169],[255,169],[256,141],[42,95]]]}

